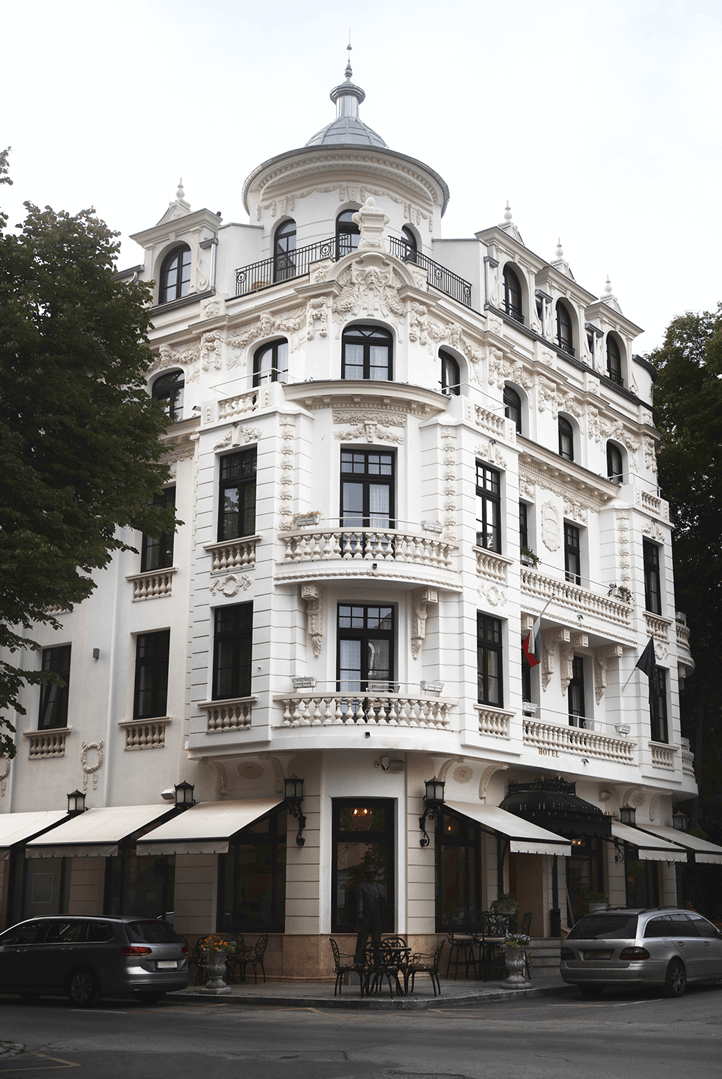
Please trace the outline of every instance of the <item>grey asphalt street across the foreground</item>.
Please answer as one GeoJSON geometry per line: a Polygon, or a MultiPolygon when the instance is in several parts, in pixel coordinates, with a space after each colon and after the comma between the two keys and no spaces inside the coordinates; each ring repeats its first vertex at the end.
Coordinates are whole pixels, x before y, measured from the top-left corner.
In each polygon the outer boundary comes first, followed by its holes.
{"type": "Polygon", "coordinates": [[[575,993],[422,1012],[0,998],[0,1079],[719,1079],[722,988],[575,993]]]}

